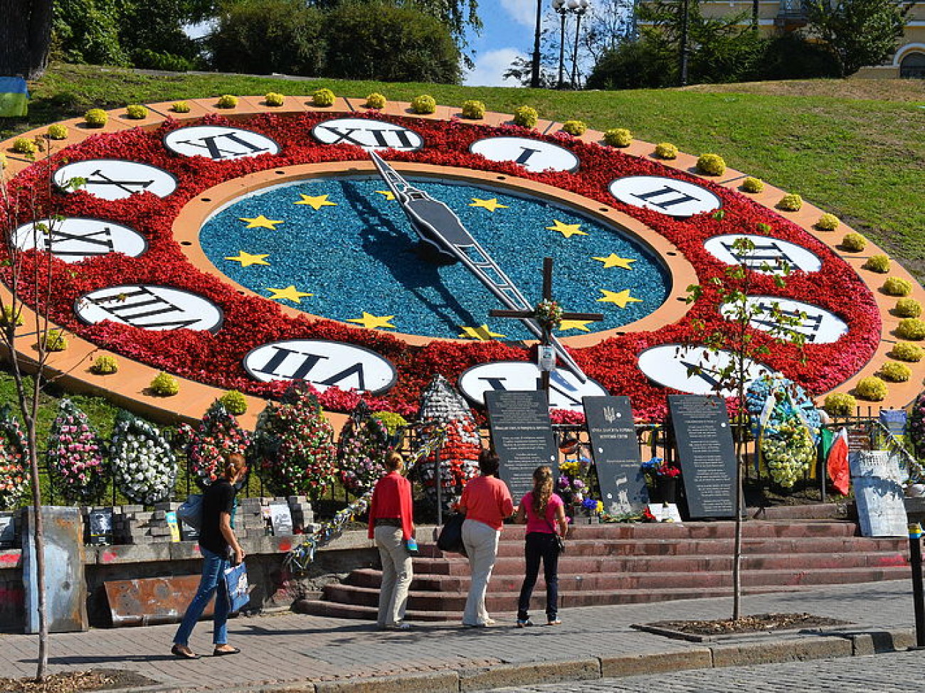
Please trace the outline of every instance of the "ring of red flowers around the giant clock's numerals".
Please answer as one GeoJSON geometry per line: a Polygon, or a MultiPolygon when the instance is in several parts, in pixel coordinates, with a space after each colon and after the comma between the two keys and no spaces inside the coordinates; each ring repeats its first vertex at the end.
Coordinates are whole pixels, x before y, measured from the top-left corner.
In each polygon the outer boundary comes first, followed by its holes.
{"type": "MultiPolygon", "coordinates": [[[[177,190],[161,199],[151,193],[135,194],[128,200],[102,201],[83,191],[52,193],[38,198],[39,212],[65,216],[93,216],[129,225],[147,238],[149,249],[139,258],[113,254],[99,256],[77,265],[55,262],[55,301],[50,316],[69,330],[116,353],[137,359],[157,369],[222,388],[234,388],[252,395],[276,397],[287,383],[258,383],[241,365],[244,355],[256,346],[276,341],[285,334],[287,339],[315,338],[349,342],[370,348],[390,359],[399,371],[395,387],[381,397],[364,397],[373,409],[389,409],[402,415],[416,411],[421,390],[436,373],[451,382],[467,368],[491,360],[525,360],[528,354],[521,348],[495,342],[466,344],[433,341],[426,346],[406,345],[397,337],[374,330],[351,327],[340,322],[314,319],[310,316],[290,317],[268,299],[241,296],[212,274],[204,274],[186,259],[171,235],[171,224],[180,209],[205,189],[230,179],[256,171],[277,169],[295,164],[333,161],[366,161],[368,155],[351,145],[327,145],[316,142],[311,129],[331,114],[299,116],[253,116],[244,121],[227,121],[208,116],[203,122],[240,125],[277,140],[281,152],[231,161],[215,162],[204,157],[188,158],[168,152],[161,139],[167,131],[179,128],[178,122],[167,121],[151,132],[132,129],[115,134],[96,135],[56,154],[52,165],[96,158],[130,159],[153,164],[173,173],[177,190]],[[209,298],[225,312],[225,320],[217,334],[178,330],[153,332],[129,325],[102,322],[87,325],[80,322],[73,310],[74,301],[93,289],[125,283],[148,283],[175,286],[209,298]]],[[[363,117],[351,115],[351,117],[363,117]]],[[[718,312],[718,298],[710,288],[709,279],[722,275],[726,265],[704,249],[704,241],[713,236],[735,233],[765,235],[794,242],[815,253],[822,262],[815,273],[796,272],[788,277],[787,286],[780,289],[770,276],[759,275],[754,284],[762,294],[784,298],[805,299],[844,320],[849,332],[833,344],[809,344],[804,347],[806,360],[801,362],[794,346],[771,343],[770,337],[755,331],[756,338],[771,345],[768,365],[783,371],[812,394],[832,389],[857,372],[873,355],[880,338],[880,314],[870,290],[855,272],[828,247],[807,231],[727,188],[709,181],[674,171],[647,159],[636,158],[598,145],[590,145],[569,136],[540,136],[523,128],[486,128],[460,121],[440,122],[407,118],[385,118],[401,123],[421,134],[423,149],[417,152],[387,152],[396,161],[442,164],[518,176],[547,183],[584,195],[595,201],[627,213],[666,237],[685,254],[706,287],[706,300],[695,304],[685,318],[665,325],[658,332],[630,333],[601,342],[597,346],[573,349],[574,359],[592,378],[612,394],[629,395],[635,413],[640,418],[660,419],[665,412],[665,389],[650,383],[636,366],[640,351],[649,346],[697,340],[691,325],[698,319],[711,326],[724,321],[718,312]],[[574,173],[527,173],[517,164],[489,162],[468,151],[475,140],[499,135],[520,135],[555,141],[572,150],[581,160],[574,173]],[[698,214],[688,219],[676,219],[665,214],[640,209],[614,200],[608,186],[618,176],[672,176],[709,188],[722,200],[725,212],[722,220],[711,214],[698,214]],[[770,232],[761,233],[759,224],[770,225],[770,232]]],[[[186,124],[184,124],[185,126],[186,124]]],[[[46,164],[34,164],[12,181],[12,192],[23,202],[42,190],[47,181],[46,164]]],[[[31,221],[31,213],[23,204],[19,219],[31,221]]],[[[2,249],[6,257],[6,249],[2,249]]],[[[2,259],[2,258],[0,258],[2,259]]],[[[27,258],[28,260],[28,258],[27,258]]],[[[5,270],[9,281],[8,269],[5,270]]],[[[28,292],[30,287],[21,287],[28,292]]],[[[41,287],[40,287],[41,288],[41,287]]],[[[319,395],[327,409],[351,411],[360,399],[353,392],[331,388],[319,395]]],[[[567,418],[567,417],[566,417],[567,418]]]]}

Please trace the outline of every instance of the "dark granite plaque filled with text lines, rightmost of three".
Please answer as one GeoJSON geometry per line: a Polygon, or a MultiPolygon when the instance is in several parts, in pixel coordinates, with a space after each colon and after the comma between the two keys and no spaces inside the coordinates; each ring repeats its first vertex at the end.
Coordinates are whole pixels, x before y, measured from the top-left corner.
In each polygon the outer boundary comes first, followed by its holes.
{"type": "Polygon", "coordinates": [[[722,397],[668,395],[688,515],[735,517],[735,444],[722,397]]]}

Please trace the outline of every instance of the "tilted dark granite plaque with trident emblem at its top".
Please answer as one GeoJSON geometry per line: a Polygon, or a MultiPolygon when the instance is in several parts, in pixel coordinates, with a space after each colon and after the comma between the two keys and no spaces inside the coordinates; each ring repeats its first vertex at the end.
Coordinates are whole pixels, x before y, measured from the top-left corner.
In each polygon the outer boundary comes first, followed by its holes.
{"type": "Polygon", "coordinates": [[[641,512],[648,504],[648,490],[630,398],[585,397],[582,401],[604,510],[611,515],[641,512]]]}

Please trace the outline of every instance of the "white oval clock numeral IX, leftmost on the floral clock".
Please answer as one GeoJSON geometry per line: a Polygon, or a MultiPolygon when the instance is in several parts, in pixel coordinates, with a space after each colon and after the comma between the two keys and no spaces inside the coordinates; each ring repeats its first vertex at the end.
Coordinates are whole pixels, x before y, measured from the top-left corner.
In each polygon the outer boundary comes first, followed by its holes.
{"type": "Polygon", "coordinates": [[[79,217],[23,224],[13,232],[13,242],[20,250],[44,250],[65,262],[111,252],[137,258],[148,248],[144,237],[128,226],[79,217]]]}

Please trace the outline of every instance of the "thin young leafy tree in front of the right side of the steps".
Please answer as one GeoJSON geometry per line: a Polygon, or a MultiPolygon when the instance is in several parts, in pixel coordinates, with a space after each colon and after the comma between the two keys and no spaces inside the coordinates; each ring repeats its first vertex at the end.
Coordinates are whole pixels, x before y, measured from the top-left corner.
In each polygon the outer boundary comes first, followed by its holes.
{"type": "MultiPolygon", "coordinates": [[[[716,218],[722,220],[722,213],[716,218]]],[[[759,225],[764,226],[764,225],[759,225]]],[[[759,228],[759,231],[768,229],[759,228]]],[[[735,541],[733,557],[733,619],[742,614],[742,516],[745,514],[743,477],[746,460],[746,431],[748,412],[745,406],[746,389],[751,381],[753,364],[771,354],[771,346],[782,348],[793,345],[800,350],[806,337],[796,328],[806,317],[781,310],[777,303],[768,310],[751,297],[772,293],[786,286],[785,277],[790,267],[785,262],[771,265],[758,262],[755,242],[742,236],[736,238],[732,253],[739,261],[726,268],[722,277],[713,277],[707,286],[687,287],[687,302],[697,303],[709,299],[720,305],[720,315],[712,322],[695,322],[695,333],[700,334],[698,346],[706,348],[700,363],[689,368],[690,374],[708,372],[717,395],[732,392],[737,400],[734,409],[735,438],[735,541]],[[770,277],[770,282],[768,281],[770,277]],[[755,328],[760,322],[763,331],[755,328]]]]}

